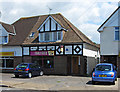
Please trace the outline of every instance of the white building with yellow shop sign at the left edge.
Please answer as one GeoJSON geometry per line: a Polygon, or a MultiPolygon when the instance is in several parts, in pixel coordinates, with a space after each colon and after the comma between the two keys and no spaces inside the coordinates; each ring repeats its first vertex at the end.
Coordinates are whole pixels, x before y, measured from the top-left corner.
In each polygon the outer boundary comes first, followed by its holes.
{"type": "Polygon", "coordinates": [[[22,56],[22,47],[8,45],[16,36],[13,25],[0,22],[0,70],[10,72],[14,63],[18,64],[18,57],[22,56]]]}

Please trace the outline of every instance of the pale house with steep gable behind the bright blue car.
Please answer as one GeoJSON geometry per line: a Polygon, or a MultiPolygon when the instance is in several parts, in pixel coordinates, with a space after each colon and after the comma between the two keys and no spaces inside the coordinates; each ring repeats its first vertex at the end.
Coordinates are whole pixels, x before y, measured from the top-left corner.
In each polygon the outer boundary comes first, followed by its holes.
{"type": "Polygon", "coordinates": [[[120,76],[120,6],[98,28],[101,62],[112,63],[120,76]]]}

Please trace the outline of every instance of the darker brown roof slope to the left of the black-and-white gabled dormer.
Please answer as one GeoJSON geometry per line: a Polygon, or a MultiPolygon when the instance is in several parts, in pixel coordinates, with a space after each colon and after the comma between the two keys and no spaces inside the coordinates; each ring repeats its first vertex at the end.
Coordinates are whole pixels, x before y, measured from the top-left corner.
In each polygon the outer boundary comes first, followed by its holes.
{"type": "Polygon", "coordinates": [[[7,45],[22,45],[28,34],[31,32],[31,29],[36,24],[39,17],[34,18],[21,18],[15,23],[13,23],[16,29],[16,36],[12,37],[9,44],[7,45]]]}

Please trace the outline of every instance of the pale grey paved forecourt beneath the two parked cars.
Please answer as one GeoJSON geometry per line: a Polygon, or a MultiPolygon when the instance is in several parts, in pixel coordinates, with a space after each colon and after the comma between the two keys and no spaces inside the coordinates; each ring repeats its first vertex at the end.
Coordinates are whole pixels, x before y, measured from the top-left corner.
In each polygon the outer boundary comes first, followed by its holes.
{"type": "Polygon", "coordinates": [[[80,76],[44,75],[15,78],[13,74],[0,73],[0,75],[0,85],[3,90],[118,90],[120,85],[118,81],[115,85],[110,83],[92,85],[91,77],[80,76]]]}

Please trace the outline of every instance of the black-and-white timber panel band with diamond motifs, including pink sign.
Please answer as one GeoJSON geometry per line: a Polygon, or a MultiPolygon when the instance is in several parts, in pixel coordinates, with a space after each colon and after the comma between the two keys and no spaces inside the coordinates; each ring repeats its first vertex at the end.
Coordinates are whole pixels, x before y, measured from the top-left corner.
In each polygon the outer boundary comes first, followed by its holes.
{"type": "Polygon", "coordinates": [[[30,46],[23,47],[23,55],[54,56],[54,55],[83,55],[82,44],[67,44],[55,46],[30,46]]]}

